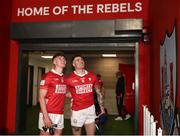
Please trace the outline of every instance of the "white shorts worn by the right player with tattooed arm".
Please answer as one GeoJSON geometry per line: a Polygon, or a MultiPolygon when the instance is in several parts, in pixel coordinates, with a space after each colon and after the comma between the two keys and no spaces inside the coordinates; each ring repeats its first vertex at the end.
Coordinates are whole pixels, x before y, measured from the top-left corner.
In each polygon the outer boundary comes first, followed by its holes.
{"type": "Polygon", "coordinates": [[[74,127],[82,127],[84,124],[95,122],[96,113],[94,105],[79,111],[72,110],[71,125],[74,127]]]}

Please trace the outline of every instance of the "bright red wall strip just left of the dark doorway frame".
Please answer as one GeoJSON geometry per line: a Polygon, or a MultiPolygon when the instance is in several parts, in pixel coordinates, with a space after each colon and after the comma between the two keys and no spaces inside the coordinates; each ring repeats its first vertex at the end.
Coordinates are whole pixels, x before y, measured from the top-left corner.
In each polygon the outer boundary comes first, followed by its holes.
{"type": "Polygon", "coordinates": [[[9,134],[14,134],[16,126],[16,95],[17,95],[17,77],[18,77],[18,54],[19,44],[11,41],[10,59],[9,59],[9,94],[7,99],[7,120],[6,127],[9,134]]]}

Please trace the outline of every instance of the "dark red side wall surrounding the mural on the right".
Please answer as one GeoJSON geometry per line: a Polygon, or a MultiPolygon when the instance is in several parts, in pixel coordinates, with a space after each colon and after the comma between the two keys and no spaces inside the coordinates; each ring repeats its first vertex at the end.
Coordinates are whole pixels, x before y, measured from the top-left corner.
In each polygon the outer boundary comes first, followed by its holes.
{"type": "MultiPolygon", "coordinates": [[[[171,33],[175,20],[177,21],[177,39],[180,39],[180,1],[179,0],[151,0],[150,1],[150,38],[151,38],[151,112],[160,122],[160,41],[167,33],[171,33]]],[[[180,42],[178,49],[178,97],[180,97],[180,42]]],[[[180,108],[180,99],[177,99],[180,108]]]]}

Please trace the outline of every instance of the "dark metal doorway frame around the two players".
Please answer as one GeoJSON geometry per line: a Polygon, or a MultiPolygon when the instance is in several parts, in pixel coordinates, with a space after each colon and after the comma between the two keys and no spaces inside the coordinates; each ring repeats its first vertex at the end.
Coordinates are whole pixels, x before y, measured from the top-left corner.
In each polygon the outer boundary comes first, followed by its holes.
{"type": "MultiPolygon", "coordinates": [[[[27,66],[28,65],[28,52],[29,51],[55,51],[55,50],[108,50],[113,48],[113,46],[103,47],[72,47],[72,46],[60,46],[59,44],[76,44],[76,43],[135,43],[135,115],[134,115],[134,134],[138,135],[138,106],[139,106],[139,40],[141,36],[137,37],[96,37],[96,38],[58,38],[58,39],[20,39],[19,41],[19,64],[18,64],[18,89],[17,89],[17,111],[16,111],[16,132],[20,133],[23,129],[25,129],[25,125],[22,123],[26,123],[26,110],[24,108],[24,98],[22,96],[27,95],[23,90],[27,88],[27,83],[25,83],[27,78],[27,66]],[[56,44],[54,44],[56,43],[56,44]],[[52,45],[50,45],[52,44],[52,45]],[[37,46],[38,45],[38,46],[37,46]],[[23,112],[22,112],[23,111],[23,112]],[[21,119],[24,118],[24,119],[21,119]]],[[[120,46],[118,46],[120,48],[120,46]]],[[[119,48],[114,46],[114,50],[116,51],[119,48]]]]}

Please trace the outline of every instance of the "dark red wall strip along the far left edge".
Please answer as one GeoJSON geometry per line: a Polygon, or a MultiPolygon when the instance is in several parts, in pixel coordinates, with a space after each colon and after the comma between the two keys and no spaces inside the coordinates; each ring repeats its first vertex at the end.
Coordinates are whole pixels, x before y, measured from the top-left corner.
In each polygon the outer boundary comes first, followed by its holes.
{"type": "Polygon", "coordinates": [[[7,131],[7,96],[11,25],[11,0],[0,1],[0,134],[7,131]]]}

